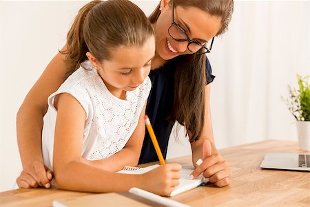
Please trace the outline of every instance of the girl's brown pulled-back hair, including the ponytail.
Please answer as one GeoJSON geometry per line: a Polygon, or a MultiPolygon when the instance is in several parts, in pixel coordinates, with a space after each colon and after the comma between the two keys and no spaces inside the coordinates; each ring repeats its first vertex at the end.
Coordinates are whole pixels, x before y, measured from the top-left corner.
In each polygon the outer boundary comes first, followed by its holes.
{"type": "Polygon", "coordinates": [[[87,60],[86,52],[101,62],[113,48],[143,46],[154,31],[143,11],[127,0],[91,1],[79,10],[67,34],[62,54],[70,63],[70,75],[87,60]]]}

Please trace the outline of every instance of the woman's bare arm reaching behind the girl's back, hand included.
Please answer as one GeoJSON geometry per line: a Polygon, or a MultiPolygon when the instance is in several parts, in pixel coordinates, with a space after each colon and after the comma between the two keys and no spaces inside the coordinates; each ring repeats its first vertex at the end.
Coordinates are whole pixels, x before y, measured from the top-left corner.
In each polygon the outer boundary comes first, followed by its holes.
{"type": "Polygon", "coordinates": [[[65,81],[69,66],[65,55],[58,53],[34,84],[17,113],[17,141],[23,172],[17,179],[20,188],[50,186],[51,172],[42,159],[41,135],[43,116],[48,109],[48,96],[65,81]]]}

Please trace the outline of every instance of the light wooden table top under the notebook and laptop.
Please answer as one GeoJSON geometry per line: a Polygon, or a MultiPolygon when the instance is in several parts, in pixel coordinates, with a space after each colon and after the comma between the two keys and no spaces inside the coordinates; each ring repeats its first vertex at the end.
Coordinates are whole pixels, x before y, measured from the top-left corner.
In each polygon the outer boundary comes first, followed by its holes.
{"type": "MultiPolygon", "coordinates": [[[[310,172],[264,170],[265,152],[302,152],[297,142],[262,141],[220,150],[231,167],[231,185],[207,184],[172,199],[189,206],[310,206],[310,172]]],[[[191,166],[191,157],[170,159],[191,166]]],[[[52,206],[54,199],[85,197],[57,189],[18,189],[0,193],[0,206],[52,206]]],[[[127,205],[126,205],[127,206],[127,205]]]]}

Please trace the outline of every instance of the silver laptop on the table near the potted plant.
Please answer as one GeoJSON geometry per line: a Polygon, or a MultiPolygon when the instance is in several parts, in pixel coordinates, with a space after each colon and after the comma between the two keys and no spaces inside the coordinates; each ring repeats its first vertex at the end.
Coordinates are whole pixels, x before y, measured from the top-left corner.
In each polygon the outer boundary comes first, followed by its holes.
{"type": "Polygon", "coordinates": [[[268,152],[260,167],[310,171],[310,153],[268,152]]]}

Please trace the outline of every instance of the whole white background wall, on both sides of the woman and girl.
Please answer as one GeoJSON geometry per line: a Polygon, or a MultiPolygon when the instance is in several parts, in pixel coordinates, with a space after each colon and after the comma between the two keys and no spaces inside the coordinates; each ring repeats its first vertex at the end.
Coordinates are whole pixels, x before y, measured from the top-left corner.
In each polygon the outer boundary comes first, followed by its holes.
{"type": "MultiPolygon", "coordinates": [[[[158,1],[134,1],[146,14],[158,1]]],[[[15,116],[85,1],[0,1],[0,191],[21,164],[15,116]]],[[[218,148],[265,139],[296,140],[280,95],[309,73],[309,1],[236,1],[229,31],[208,56],[216,79],[211,111],[218,148]]],[[[182,137],[183,135],[181,135],[182,137]]],[[[172,143],[174,139],[170,140],[172,143]]],[[[167,157],[190,153],[186,138],[167,157]]]]}

